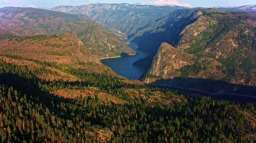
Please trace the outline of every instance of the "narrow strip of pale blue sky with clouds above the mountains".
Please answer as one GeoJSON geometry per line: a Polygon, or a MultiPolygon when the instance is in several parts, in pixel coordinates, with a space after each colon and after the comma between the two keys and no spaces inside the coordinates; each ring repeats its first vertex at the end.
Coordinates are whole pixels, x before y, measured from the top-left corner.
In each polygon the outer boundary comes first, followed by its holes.
{"type": "Polygon", "coordinates": [[[0,0],[0,7],[54,7],[54,6],[80,6],[92,3],[151,3],[169,4],[188,7],[213,6],[244,6],[255,5],[256,0],[0,0]]]}

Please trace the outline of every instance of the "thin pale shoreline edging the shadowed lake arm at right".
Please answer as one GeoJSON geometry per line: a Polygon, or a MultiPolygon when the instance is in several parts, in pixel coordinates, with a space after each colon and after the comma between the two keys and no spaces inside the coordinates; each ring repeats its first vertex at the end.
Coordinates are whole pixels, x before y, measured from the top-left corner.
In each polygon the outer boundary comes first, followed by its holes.
{"type": "Polygon", "coordinates": [[[164,86],[164,85],[159,85],[159,84],[144,84],[147,86],[162,86],[162,87],[174,87],[174,88],[179,88],[179,89],[185,89],[185,90],[194,90],[194,91],[200,91],[202,93],[208,93],[210,95],[220,95],[220,94],[226,94],[226,95],[235,95],[235,96],[243,96],[243,97],[249,97],[249,98],[256,98],[255,96],[250,96],[250,95],[243,95],[243,94],[235,94],[235,93],[209,93],[207,91],[202,91],[199,89],[193,89],[193,88],[182,88],[182,87],[175,87],[175,86],[164,86]]]}

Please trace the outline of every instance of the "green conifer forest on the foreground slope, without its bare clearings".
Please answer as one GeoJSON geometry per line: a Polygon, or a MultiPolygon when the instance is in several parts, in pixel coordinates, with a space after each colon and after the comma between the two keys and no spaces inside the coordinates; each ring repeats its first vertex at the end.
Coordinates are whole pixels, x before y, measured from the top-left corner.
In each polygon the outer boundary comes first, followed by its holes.
{"type": "Polygon", "coordinates": [[[89,73],[84,69],[63,69],[63,65],[55,63],[20,56],[6,57],[29,60],[42,67],[29,70],[26,65],[14,65],[0,59],[2,142],[252,143],[251,137],[256,136],[255,128],[249,124],[244,112],[255,115],[252,104],[179,95],[166,89],[128,84],[116,77],[89,73]],[[38,79],[39,75],[58,75],[48,67],[82,81],[38,79]],[[90,90],[89,87],[99,89],[92,94],[95,98],[67,99],[52,94],[58,89],[90,90]],[[145,89],[140,91],[145,98],[131,98],[126,89],[145,89]],[[100,92],[122,99],[124,103],[106,104],[99,98],[100,92]],[[153,92],[164,93],[163,100],[174,100],[174,104],[152,102],[153,92]]]}

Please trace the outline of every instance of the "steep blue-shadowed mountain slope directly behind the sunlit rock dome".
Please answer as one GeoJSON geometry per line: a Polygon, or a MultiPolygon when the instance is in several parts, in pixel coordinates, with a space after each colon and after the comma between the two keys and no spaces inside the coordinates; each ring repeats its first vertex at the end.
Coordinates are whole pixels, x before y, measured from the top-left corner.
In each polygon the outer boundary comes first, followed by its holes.
{"type": "Polygon", "coordinates": [[[138,43],[139,50],[155,54],[162,42],[169,43],[171,38],[177,37],[185,26],[194,22],[200,15],[193,12],[195,10],[187,9],[172,12],[137,31],[129,40],[138,43]]]}

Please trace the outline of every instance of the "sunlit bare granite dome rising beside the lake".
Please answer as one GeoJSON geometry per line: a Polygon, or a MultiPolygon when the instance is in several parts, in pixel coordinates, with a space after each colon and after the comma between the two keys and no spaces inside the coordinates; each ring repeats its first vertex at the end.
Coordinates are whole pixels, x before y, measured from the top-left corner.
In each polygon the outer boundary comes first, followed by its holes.
{"type": "Polygon", "coordinates": [[[176,69],[194,64],[195,59],[196,57],[191,54],[176,49],[167,43],[162,43],[148,73],[164,79],[174,78],[180,76],[180,72],[176,69]]]}

